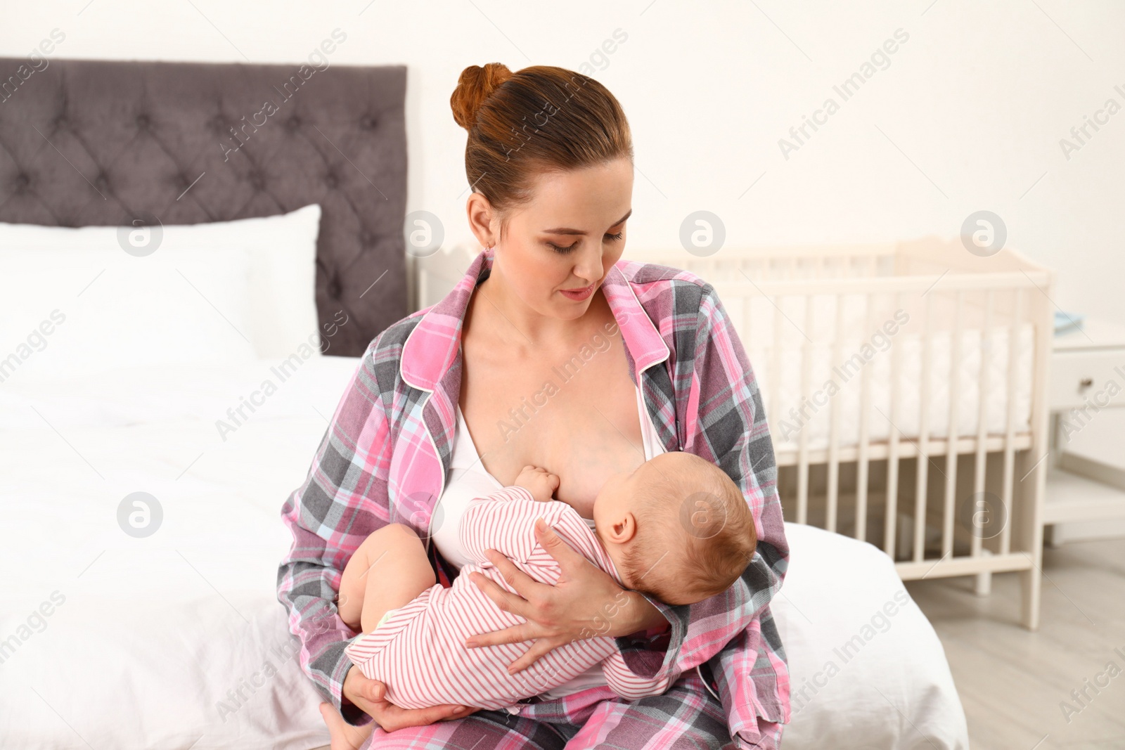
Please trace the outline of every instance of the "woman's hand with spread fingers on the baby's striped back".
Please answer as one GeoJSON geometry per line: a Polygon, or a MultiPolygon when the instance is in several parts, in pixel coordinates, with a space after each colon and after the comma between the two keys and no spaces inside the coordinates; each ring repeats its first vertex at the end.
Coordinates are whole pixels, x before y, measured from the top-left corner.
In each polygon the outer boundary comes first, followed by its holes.
{"type": "Polygon", "coordinates": [[[540,584],[500,552],[488,550],[488,559],[516,593],[504,590],[479,572],[472,572],[470,579],[497,607],[526,622],[472,635],[465,642],[467,648],[533,640],[531,648],[508,666],[508,674],[514,675],[572,641],[616,638],[667,624],[648,599],[618,586],[609,573],[570,549],[542,518],[536,522],[536,537],[562,569],[558,582],[540,584]]]}

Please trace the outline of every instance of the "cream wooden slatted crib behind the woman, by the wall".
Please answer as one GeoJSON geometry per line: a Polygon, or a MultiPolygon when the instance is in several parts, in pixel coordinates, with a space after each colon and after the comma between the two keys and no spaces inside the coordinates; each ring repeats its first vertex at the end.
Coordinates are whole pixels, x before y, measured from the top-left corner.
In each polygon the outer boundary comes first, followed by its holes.
{"type": "Polygon", "coordinates": [[[1018,571],[1038,626],[1050,270],[958,238],[628,252],[714,286],[762,392],[786,521],[903,580],[1018,571]]]}

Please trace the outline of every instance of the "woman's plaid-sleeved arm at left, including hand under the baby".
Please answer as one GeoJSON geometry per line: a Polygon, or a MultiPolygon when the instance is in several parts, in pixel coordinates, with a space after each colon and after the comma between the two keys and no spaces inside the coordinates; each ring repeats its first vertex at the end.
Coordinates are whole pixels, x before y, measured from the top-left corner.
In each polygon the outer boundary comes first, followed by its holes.
{"type": "Polygon", "coordinates": [[[292,545],[278,568],[278,599],[289,631],[300,640],[302,669],[353,725],[374,717],[390,731],[453,716],[453,706],[404,711],[386,701],[384,686],[353,669],[344,654],[357,634],[336,612],[344,564],[360,543],[389,518],[389,424],[368,347],[321,440],[305,482],[285,503],[281,518],[292,545]]]}

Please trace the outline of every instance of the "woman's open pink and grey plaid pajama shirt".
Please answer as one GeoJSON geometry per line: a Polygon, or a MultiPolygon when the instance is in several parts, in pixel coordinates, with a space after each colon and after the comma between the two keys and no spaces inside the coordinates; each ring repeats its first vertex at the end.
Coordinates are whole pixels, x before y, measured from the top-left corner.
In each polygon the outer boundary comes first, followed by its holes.
{"type": "MultiPolygon", "coordinates": [[[[461,383],[460,333],[492,250],[457,287],[410,315],[368,346],[325,431],[308,477],[285,503],[292,533],[278,569],[278,598],[300,641],[300,665],[352,724],[370,716],[341,706],[358,638],[336,613],[344,564],[388,523],[429,540],[453,450],[461,383]]],[[[609,744],[776,748],[790,719],[785,652],[770,600],[785,575],[789,546],[776,494],[776,466],[753,370],[714,289],[663,265],[621,261],[602,290],[616,319],[633,382],[665,450],[713,461],[742,489],[754,512],[757,552],[724,594],[693,605],[649,599],[670,625],[657,640],[618,639],[637,675],[668,675],[667,693],[627,702],[605,687],[552,701],[529,698],[508,711],[480,711],[453,722],[376,729],[372,748],[464,747],[466,750],[609,744]],[[700,668],[696,671],[696,668],[700,668]],[[701,678],[706,675],[713,697],[701,678]]],[[[439,580],[449,569],[428,544],[439,580]]]]}

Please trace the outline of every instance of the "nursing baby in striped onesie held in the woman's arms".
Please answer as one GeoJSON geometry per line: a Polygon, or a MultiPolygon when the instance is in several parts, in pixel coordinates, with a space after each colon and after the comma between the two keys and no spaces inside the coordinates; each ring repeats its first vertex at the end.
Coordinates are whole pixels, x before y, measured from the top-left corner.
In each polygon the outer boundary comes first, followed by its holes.
{"type": "MultiPolygon", "coordinates": [[[[663,693],[665,675],[638,677],[613,638],[595,635],[561,645],[526,669],[507,666],[526,643],[467,649],[476,633],[521,624],[469,579],[476,570],[513,591],[485,555],[494,549],[531,578],[554,585],[558,562],[539,544],[537,518],[623,588],[669,605],[721,594],[746,569],[757,544],[754,517],[722,469],[692,453],[662,453],[632,472],[611,477],[594,500],[591,530],[577,510],[551,499],[559,480],[524,467],[515,485],[471,501],[458,535],[472,562],[449,588],[435,581],[423,542],[406,525],[371,533],[348,561],[340,581],[340,617],[364,634],[344,653],[368,678],[386,685],[402,708],[461,704],[507,708],[601,665],[606,685],[626,699],[663,693]]],[[[354,728],[328,705],[322,713],[332,748],[358,748],[374,723],[354,728]]]]}

